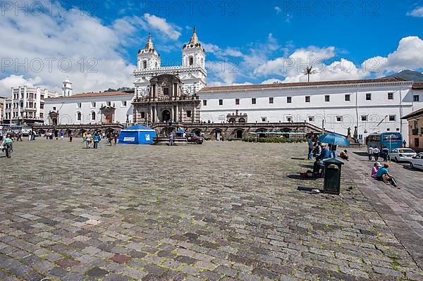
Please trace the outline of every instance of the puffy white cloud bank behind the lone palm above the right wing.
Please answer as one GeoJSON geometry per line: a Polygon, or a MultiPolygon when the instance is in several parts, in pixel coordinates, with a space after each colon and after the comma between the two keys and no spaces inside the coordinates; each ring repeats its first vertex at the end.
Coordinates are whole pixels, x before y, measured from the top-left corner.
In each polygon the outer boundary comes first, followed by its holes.
{"type": "Polygon", "coordinates": [[[309,46],[296,49],[288,57],[279,57],[255,68],[257,76],[280,75],[284,82],[305,82],[307,75],[302,71],[312,65],[317,73],[310,75],[311,81],[362,79],[372,75],[385,76],[403,69],[420,69],[423,65],[423,40],[419,37],[405,37],[400,40],[398,49],[388,56],[368,58],[361,65],[355,65],[347,58],[333,60],[336,49],[333,46],[319,48],[309,46]],[[327,61],[331,61],[329,64],[327,61]]]}

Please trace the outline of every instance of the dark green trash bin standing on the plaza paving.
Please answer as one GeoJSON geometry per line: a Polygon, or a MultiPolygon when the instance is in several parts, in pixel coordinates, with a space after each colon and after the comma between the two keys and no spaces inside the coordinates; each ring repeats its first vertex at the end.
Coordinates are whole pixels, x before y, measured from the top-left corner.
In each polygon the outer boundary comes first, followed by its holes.
{"type": "Polygon", "coordinates": [[[341,166],[343,161],[336,158],[329,158],[323,161],[324,164],[324,183],[323,192],[329,194],[341,193],[341,166]]]}

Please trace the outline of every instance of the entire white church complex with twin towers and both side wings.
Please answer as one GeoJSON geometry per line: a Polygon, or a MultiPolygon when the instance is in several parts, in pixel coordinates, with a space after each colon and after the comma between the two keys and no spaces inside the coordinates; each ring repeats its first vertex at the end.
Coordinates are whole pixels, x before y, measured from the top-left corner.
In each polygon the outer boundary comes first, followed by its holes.
{"type": "MultiPolygon", "coordinates": [[[[149,35],[137,53],[134,91],[73,94],[66,79],[61,97],[45,99],[44,123],[152,125],[171,120],[198,129],[195,123],[265,127],[306,122],[342,135],[357,127],[363,138],[386,131],[407,138],[401,118],[423,108],[422,87],[400,78],[207,87],[206,53],[195,29],[181,58],[181,65],[162,66],[149,35]]],[[[247,135],[247,127],[243,130],[247,135]]]]}

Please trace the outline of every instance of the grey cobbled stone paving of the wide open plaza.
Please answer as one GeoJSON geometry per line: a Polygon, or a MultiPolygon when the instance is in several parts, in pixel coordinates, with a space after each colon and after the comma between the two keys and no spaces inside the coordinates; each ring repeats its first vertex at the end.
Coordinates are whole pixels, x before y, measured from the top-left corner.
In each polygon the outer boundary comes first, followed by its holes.
{"type": "MultiPolygon", "coordinates": [[[[423,280],[360,190],[369,163],[345,164],[341,196],[310,194],[305,150],[16,143],[0,158],[0,280],[423,280]]],[[[418,187],[400,189],[405,212],[422,210],[418,187]]]]}

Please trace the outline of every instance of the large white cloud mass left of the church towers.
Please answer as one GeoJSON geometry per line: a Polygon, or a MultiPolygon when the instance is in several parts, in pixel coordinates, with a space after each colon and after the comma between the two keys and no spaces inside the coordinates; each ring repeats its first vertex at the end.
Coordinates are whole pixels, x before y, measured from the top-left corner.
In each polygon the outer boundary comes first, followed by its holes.
{"type": "Polygon", "coordinates": [[[27,15],[24,11],[15,15],[14,9],[4,11],[0,42],[7,44],[0,44],[3,58],[0,96],[10,96],[12,86],[25,84],[60,91],[66,76],[73,82],[75,93],[133,87],[135,65],[124,58],[128,55],[125,46],[145,42],[150,30],[177,38],[175,28],[178,27],[151,15],[118,18],[105,25],[99,18],[76,8],[67,11],[60,7],[27,15]],[[11,65],[7,66],[4,60],[11,65]],[[18,63],[26,68],[18,67],[18,63]]]}

